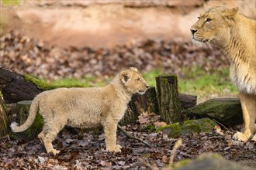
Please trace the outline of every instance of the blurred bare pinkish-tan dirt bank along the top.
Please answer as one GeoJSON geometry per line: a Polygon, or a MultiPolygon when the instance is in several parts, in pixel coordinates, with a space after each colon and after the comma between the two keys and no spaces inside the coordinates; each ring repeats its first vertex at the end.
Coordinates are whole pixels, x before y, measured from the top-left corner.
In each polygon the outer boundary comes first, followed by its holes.
{"type": "Polygon", "coordinates": [[[213,5],[239,6],[255,18],[254,1],[24,1],[1,5],[6,32],[54,46],[113,47],[141,39],[190,40],[189,28],[201,12],[213,5]]]}

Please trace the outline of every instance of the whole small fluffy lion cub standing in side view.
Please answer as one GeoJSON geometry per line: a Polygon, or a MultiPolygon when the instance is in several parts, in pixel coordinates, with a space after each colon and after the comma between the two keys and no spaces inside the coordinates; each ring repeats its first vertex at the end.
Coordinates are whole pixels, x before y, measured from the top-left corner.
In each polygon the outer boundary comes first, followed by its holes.
{"type": "Polygon", "coordinates": [[[116,128],[123,117],[133,93],[143,94],[147,83],[136,68],[121,71],[106,87],[58,88],[38,94],[32,101],[29,117],[24,124],[11,124],[12,131],[25,131],[33,123],[39,109],[43,117],[43,131],[38,138],[47,153],[59,153],[52,141],[67,124],[74,128],[103,125],[106,150],[121,151],[116,145],[116,128]]]}

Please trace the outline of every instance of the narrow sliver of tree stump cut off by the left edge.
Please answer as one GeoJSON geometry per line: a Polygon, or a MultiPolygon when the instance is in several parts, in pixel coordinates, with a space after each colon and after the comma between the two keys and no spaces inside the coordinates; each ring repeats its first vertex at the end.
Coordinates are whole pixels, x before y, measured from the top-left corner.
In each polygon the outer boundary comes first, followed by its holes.
{"type": "Polygon", "coordinates": [[[4,108],[4,100],[0,96],[0,138],[7,136],[8,127],[7,127],[7,116],[4,108]]]}

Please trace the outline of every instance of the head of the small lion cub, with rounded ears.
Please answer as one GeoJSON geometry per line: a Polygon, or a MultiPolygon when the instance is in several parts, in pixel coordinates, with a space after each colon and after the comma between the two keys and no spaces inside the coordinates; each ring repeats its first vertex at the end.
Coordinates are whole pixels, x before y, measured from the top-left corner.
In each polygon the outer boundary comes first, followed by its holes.
{"type": "Polygon", "coordinates": [[[137,68],[130,67],[119,73],[119,78],[129,93],[144,94],[148,84],[138,72],[137,68]]]}

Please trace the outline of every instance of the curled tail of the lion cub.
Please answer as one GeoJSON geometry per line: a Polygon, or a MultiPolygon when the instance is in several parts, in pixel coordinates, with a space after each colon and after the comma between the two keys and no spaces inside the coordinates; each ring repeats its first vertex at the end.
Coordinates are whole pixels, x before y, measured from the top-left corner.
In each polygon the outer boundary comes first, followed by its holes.
{"type": "Polygon", "coordinates": [[[36,112],[39,107],[39,100],[40,100],[39,97],[35,97],[34,100],[32,101],[32,104],[29,109],[29,117],[27,118],[24,124],[22,124],[21,126],[18,126],[16,122],[12,122],[10,126],[12,131],[14,132],[26,131],[26,129],[28,129],[31,126],[31,124],[33,124],[33,121],[35,120],[35,117],[36,117],[36,112]]]}

